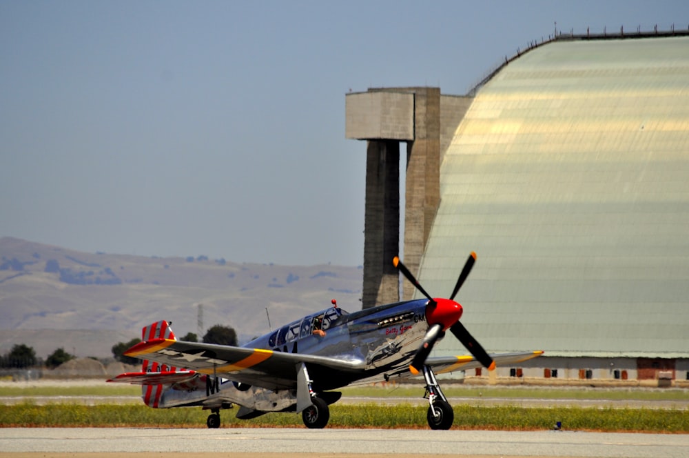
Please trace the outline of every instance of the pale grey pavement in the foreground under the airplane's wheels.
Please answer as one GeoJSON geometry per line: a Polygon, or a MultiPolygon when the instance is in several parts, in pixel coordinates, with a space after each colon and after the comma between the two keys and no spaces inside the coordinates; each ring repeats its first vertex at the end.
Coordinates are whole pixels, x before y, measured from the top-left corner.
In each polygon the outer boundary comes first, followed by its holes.
{"type": "Polygon", "coordinates": [[[462,457],[664,457],[689,455],[689,435],[568,431],[308,430],[301,428],[0,428],[0,457],[56,458],[134,452],[185,458],[394,455],[462,457]],[[181,455],[179,455],[181,457],[181,455]]]}

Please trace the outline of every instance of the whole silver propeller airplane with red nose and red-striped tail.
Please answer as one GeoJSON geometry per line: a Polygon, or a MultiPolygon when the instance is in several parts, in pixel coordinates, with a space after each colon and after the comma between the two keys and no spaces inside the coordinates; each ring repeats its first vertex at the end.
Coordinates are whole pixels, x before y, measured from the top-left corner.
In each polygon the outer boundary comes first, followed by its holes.
{"type": "Polygon", "coordinates": [[[143,328],[142,342],[125,352],[143,359],[142,372],[108,381],[139,384],[152,408],[201,406],[210,410],[209,428],[220,426],[220,410],[240,406],[236,417],[266,412],[300,412],[307,428],[325,428],[338,388],[422,375],[431,429],[449,429],[452,406],[436,374],[496,364],[516,364],[542,351],[489,355],[460,322],[455,296],[469,276],[471,253],[449,299],[433,298],[395,257],[393,264],[426,299],[346,312],[332,307],[307,315],[245,346],[178,341],[167,321],[143,328]],[[472,356],[430,357],[446,330],[472,356]]]}

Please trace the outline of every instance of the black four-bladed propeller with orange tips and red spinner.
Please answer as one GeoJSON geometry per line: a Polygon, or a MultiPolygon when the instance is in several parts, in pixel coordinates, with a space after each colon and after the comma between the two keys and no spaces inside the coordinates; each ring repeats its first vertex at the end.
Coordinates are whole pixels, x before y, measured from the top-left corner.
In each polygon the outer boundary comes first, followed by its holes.
{"type": "Polygon", "coordinates": [[[411,272],[409,272],[409,269],[404,266],[402,261],[400,261],[400,258],[395,256],[393,259],[394,266],[398,268],[400,272],[402,272],[402,275],[407,277],[411,284],[413,284],[413,286],[415,286],[415,288],[418,289],[422,295],[428,297],[429,299],[428,304],[426,304],[426,321],[429,323],[429,330],[426,331],[422,344],[417,350],[416,355],[414,355],[414,359],[411,361],[411,365],[409,366],[409,370],[411,370],[414,375],[418,374],[423,367],[426,358],[431,354],[431,350],[433,350],[435,341],[438,340],[438,337],[444,335],[444,332],[448,329],[451,330],[455,337],[457,337],[457,340],[462,342],[462,345],[464,345],[466,349],[471,352],[471,355],[473,355],[477,361],[488,368],[488,370],[495,369],[495,362],[493,361],[493,358],[486,353],[486,350],[483,349],[476,339],[471,337],[469,331],[464,328],[462,323],[460,323],[460,317],[462,317],[462,306],[454,301],[457,291],[462,288],[462,283],[464,283],[466,277],[469,277],[469,272],[471,272],[471,268],[473,268],[475,261],[476,253],[471,252],[469,259],[466,259],[466,264],[464,264],[460,277],[457,278],[455,289],[452,290],[452,295],[449,299],[433,299],[433,297],[431,297],[431,295],[429,295],[429,293],[422,288],[420,283],[414,278],[411,272]]]}

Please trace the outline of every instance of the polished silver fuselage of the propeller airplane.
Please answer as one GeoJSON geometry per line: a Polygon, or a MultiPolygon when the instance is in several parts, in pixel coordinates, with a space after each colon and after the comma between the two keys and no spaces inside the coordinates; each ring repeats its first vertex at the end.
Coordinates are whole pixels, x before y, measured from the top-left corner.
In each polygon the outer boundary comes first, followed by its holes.
{"type": "MultiPolygon", "coordinates": [[[[320,379],[313,377],[314,386],[319,390],[400,380],[412,376],[409,364],[428,329],[427,303],[427,299],[418,299],[353,313],[328,308],[258,337],[245,347],[356,359],[364,363],[364,370],[356,373],[327,372],[320,379]],[[319,326],[325,335],[314,333],[319,326]]],[[[314,372],[318,373],[317,368],[314,372]]],[[[296,404],[296,390],[247,388],[228,379],[221,379],[218,392],[209,395],[205,377],[199,374],[185,382],[183,389],[167,388],[159,407],[213,409],[238,404],[250,410],[279,412],[290,410],[296,404]]]]}

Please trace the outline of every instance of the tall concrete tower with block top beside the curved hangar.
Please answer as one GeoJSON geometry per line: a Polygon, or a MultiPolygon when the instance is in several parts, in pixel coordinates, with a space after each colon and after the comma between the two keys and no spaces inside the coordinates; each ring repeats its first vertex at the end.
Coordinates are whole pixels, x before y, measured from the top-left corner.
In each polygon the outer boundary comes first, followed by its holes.
{"type": "MultiPolygon", "coordinates": [[[[404,263],[418,270],[440,202],[440,99],[439,88],[369,89],[345,98],[345,136],[367,140],[364,308],[400,299],[392,264],[400,251],[400,141],[407,143],[404,263]]],[[[405,299],[412,288],[404,283],[405,299]]]]}

